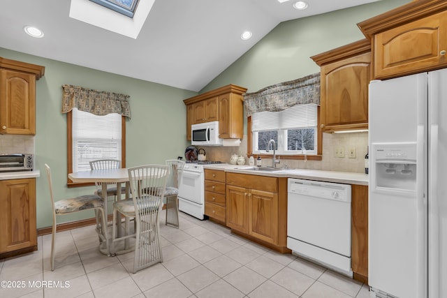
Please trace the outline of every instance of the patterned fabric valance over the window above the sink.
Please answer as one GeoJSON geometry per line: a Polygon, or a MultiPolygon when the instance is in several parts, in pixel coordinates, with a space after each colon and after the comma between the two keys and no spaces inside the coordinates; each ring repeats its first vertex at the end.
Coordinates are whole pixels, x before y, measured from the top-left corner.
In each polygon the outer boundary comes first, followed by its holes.
{"type": "Polygon", "coordinates": [[[247,117],[256,112],[279,112],[294,105],[307,103],[320,105],[320,73],[244,94],[247,117]]]}

